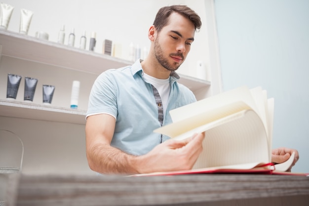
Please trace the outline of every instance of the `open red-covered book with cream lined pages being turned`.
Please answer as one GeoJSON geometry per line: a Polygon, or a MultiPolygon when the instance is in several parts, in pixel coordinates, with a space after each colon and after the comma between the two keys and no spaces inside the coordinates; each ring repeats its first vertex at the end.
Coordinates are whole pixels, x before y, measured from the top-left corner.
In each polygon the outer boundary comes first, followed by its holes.
{"type": "Polygon", "coordinates": [[[203,151],[192,170],[156,174],[286,171],[271,163],[274,101],[261,87],[239,87],[170,111],[173,123],[154,132],[185,139],[205,132],[203,151]]]}

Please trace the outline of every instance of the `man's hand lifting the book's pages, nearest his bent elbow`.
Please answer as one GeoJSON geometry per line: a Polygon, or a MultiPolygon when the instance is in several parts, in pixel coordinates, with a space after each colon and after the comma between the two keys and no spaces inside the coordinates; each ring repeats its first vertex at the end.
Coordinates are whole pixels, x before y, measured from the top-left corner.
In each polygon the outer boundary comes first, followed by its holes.
{"type": "Polygon", "coordinates": [[[138,172],[176,171],[191,169],[202,152],[204,133],[184,140],[169,139],[148,154],[138,157],[138,172]]]}

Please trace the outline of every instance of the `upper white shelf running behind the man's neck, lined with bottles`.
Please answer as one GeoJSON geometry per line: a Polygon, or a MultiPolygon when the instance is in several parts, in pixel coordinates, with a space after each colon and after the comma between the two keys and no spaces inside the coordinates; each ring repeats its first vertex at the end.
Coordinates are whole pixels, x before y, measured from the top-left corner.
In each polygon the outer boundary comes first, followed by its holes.
{"type": "MultiPolygon", "coordinates": [[[[1,55],[3,56],[26,59],[97,75],[108,69],[117,69],[132,64],[130,61],[106,54],[99,54],[52,41],[44,41],[10,31],[0,30],[0,44],[2,45],[1,55]]],[[[192,91],[210,85],[208,81],[186,75],[180,76],[179,82],[192,91]]]]}

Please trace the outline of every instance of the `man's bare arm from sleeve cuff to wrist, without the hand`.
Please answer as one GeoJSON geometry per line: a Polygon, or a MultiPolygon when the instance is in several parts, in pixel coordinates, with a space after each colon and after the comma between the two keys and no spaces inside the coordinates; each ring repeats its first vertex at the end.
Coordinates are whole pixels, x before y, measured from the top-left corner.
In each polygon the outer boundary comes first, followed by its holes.
{"type": "Polygon", "coordinates": [[[136,173],[132,157],[111,146],[116,120],[100,114],[87,118],[86,155],[89,167],[100,173],[136,173]]]}

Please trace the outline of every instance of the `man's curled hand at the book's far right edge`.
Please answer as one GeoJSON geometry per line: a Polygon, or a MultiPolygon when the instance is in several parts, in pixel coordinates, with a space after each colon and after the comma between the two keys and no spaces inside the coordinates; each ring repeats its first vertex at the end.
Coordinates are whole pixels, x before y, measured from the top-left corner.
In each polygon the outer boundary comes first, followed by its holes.
{"type": "Polygon", "coordinates": [[[289,149],[289,148],[285,148],[285,147],[273,149],[272,152],[271,152],[272,153],[271,154],[271,162],[272,163],[284,163],[285,161],[287,161],[290,158],[290,156],[292,155],[293,152],[295,152],[294,161],[293,161],[293,164],[291,165],[291,167],[287,170],[287,171],[290,172],[292,166],[294,166],[295,163],[299,159],[299,154],[298,154],[297,150],[289,149]]]}

